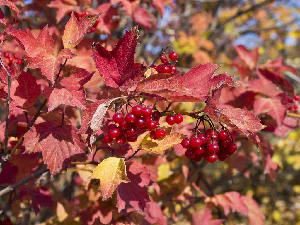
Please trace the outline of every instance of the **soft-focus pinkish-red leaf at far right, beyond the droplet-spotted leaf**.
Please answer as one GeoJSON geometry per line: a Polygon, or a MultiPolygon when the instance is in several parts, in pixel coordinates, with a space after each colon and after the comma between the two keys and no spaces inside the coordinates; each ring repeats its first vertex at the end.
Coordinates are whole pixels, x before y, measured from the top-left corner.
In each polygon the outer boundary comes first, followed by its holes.
{"type": "Polygon", "coordinates": [[[281,127],[286,115],[287,105],[282,103],[280,96],[277,96],[277,98],[264,98],[259,96],[254,101],[253,107],[256,115],[269,114],[276,120],[278,126],[281,127]]]}

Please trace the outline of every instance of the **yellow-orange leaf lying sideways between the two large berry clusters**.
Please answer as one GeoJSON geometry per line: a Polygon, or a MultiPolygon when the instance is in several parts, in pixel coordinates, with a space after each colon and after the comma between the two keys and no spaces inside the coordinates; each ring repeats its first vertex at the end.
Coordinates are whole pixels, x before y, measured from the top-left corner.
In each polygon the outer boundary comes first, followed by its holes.
{"type": "Polygon", "coordinates": [[[179,134],[177,132],[170,134],[172,127],[161,127],[166,131],[166,136],[163,138],[159,138],[157,140],[152,140],[150,138],[150,133],[144,137],[142,144],[139,149],[153,152],[155,154],[159,154],[164,156],[164,151],[170,149],[176,145],[179,145],[182,139],[185,138],[185,135],[179,134]]]}

